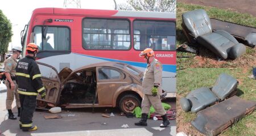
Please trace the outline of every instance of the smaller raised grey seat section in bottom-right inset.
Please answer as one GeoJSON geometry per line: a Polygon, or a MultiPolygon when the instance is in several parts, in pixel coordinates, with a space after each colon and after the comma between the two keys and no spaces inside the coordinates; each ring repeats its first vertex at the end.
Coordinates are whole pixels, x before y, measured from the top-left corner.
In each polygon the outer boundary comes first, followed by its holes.
{"type": "Polygon", "coordinates": [[[212,87],[212,92],[221,100],[224,100],[232,92],[237,91],[237,79],[232,76],[222,73],[218,76],[214,86],[212,87]]]}

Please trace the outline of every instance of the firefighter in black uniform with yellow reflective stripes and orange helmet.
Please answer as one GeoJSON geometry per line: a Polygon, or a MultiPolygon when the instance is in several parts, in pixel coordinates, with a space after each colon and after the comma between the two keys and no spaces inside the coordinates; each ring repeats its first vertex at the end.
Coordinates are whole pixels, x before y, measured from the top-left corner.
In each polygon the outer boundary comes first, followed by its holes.
{"type": "Polygon", "coordinates": [[[16,67],[16,81],[18,82],[21,105],[19,126],[23,131],[34,131],[37,130],[36,126],[32,126],[32,117],[36,108],[36,96],[40,94],[44,99],[46,91],[39,67],[35,62],[38,46],[30,43],[27,45],[26,50],[27,56],[20,59],[16,67]]]}

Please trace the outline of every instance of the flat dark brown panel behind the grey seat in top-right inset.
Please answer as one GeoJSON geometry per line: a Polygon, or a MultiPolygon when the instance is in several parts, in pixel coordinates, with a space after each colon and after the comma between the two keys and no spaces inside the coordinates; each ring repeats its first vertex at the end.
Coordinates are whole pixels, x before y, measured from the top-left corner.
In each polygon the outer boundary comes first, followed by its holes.
{"type": "Polygon", "coordinates": [[[255,47],[256,28],[213,18],[210,19],[210,23],[212,24],[213,30],[224,30],[244,44],[255,47]]]}

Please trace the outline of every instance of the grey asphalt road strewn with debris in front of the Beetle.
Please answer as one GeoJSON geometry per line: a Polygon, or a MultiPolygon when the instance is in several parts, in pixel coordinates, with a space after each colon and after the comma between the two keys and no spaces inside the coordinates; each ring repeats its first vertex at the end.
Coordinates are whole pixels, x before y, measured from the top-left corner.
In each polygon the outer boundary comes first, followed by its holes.
{"type": "MultiPolygon", "coordinates": [[[[162,121],[148,120],[148,126],[135,126],[134,122],[139,121],[138,118],[127,118],[120,116],[117,108],[96,108],[96,113],[92,113],[92,108],[72,109],[71,111],[63,111],[59,114],[63,118],[46,120],[44,116],[52,114],[48,111],[36,110],[34,113],[33,124],[38,126],[37,131],[23,132],[19,129],[18,120],[8,120],[8,114],[5,109],[6,87],[0,84],[0,130],[2,135],[176,135],[176,120],[171,120],[171,124],[167,128],[159,128],[162,121]],[[113,112],[114,117],[105,118],[101,114],[113,112]],[[122,128],[123,124],[127,124],[129,128],[122,128]]],[[[165,101],[175,108],[175,99],[165,101]]],[[[13,103],[13,111],[17,115],[15,102],[13,103]]]]}

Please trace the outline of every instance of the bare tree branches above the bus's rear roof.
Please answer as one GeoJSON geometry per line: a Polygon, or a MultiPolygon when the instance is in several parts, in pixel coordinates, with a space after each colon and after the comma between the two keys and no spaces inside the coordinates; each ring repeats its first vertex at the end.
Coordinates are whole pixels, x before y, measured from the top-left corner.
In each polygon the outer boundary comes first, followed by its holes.
{"type": "Polygon", "coordinates": [[[118,10],[175,12],[176,0],[127,0],[127,4],[119,4],[118,10]]]}

